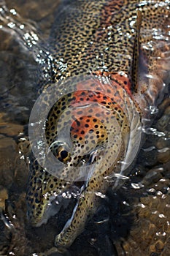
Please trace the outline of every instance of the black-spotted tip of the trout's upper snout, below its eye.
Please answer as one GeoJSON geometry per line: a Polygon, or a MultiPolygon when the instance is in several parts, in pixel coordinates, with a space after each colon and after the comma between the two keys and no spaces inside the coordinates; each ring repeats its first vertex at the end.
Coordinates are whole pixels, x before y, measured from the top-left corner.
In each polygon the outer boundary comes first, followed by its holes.
{"type": "Polygon", "coordinates": [[[31,163],[28,189],[26,195],[27,216],[31,225],[39,227],[57,214],[61,206],[66,207],[68,197],[63,202],[62,193],[70,190],[68,181],[59,180],[47,173],[34,159],[31,163]]]}

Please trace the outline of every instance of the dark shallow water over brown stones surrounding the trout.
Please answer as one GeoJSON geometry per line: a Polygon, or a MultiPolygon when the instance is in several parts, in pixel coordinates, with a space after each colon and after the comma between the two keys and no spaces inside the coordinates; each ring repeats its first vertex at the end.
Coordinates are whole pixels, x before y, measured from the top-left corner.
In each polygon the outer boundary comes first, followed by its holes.
{"type": "MultiPolygon", "coordinates": [[[[12,32],[15,31],[12,18],[15,12],[20,13],[22,18],[18,16],[18,22],[28,29],[34,28],[45,41],[58,1],[0,1],[0,4],[0,8],[11,10],[10,24],[6,13],[0,17],[0,252],[18,256],[59,255],[53,241],[56,230],[61,230],[69,218],[72,204],[62,213],[60,223],[53,217],[47,225],[33,228],[26,218],[29,161],[26,124],[40,78],[33,53],[12,32]]],[[[65,255],[170,255],[169,105],[167,91],[152,129],[145,131],[146,141],[129,180],[119,192],[108,191],[107,197],[101,199],[101,208],[65,255]]]]}

